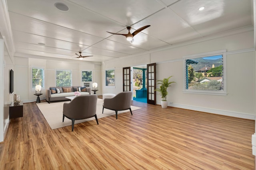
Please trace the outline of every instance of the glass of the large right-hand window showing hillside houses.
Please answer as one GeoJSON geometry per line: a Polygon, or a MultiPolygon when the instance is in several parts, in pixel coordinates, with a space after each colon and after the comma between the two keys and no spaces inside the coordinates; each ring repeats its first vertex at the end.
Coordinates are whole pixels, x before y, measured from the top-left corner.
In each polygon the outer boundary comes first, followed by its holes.
{"type": "Polygon", "coordinates": [[[186,89],[223,90],[223,56],[186,59],[186,89]]]}

